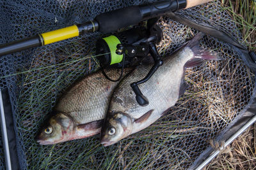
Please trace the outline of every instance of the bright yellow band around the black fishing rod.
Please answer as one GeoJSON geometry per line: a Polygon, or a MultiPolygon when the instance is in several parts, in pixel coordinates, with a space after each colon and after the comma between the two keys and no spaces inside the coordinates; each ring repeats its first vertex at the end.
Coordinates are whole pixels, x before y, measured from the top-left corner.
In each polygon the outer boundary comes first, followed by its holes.
{"type": "Polygon", "coordinates": [[[41,34],[41,36],[44,39],[44,45],[48,45],[57,41],[79,36],[79,30],[77,25],[72,25],[63,29],[45,32],[41,34]]]}

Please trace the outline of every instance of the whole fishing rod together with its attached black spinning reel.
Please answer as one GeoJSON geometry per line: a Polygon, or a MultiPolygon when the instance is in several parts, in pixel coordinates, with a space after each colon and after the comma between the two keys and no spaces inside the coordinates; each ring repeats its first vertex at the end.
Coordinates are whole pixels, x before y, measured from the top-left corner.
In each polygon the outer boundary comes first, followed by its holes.
{"type": "Polygon", "coordinates": [[[138,85],[148,81],[157,69],[163,65],[156,43],[162,38],[163,31],[156,25],[159,17],[177,11],[190,8],[198,4],[207,3],[212,0],[169,0],[157,1],[156,3],[141,4],[138,6],[129,6],[119,10],[108,11],[97,15],[94,20],[84,22],[83,24],[72,25],[63,29],[45,32],[32,36],[31,38],[21,39],[0,46],[0,56],[19,52],[36,46],[44,46],[64,39],[73,38],[86,34],[88,32],[99,31],[104,34],[117,31],[129,25],[136,25],[141,21],[147,20],[147,31],[131,29],[123,31],[119,35],[112,35],[99,39],[96,43],[96,53],[109,53],[97,57],[102,67],[104,76],[111,80],[104,72],[106,67],[122,67],[119,81],[122,77],[124,67],[136,66],[147,57],[148,54],[154,59],[154,65],[148,71],[145,78],[131,83],[132,90],[136,95],[136,101],[141,106],[148,105],[147,97],[143,96],[138,85]]]}

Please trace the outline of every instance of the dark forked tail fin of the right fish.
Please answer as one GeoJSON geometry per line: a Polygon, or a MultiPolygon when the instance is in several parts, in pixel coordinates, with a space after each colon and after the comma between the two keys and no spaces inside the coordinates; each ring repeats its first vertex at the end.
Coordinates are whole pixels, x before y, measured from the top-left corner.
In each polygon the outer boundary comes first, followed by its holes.
{"type": "Polygon", "coordinates": [[[200,66],[203,64],[206,60],[220,60],[218,57],[217,53],[211,52],[209,50],[206,50],[200,46],[200,39],[204,36],[203,32],[199,32],[196,34],[196,36],[191,39],[188,44],[186,45],[189,47],[193,53],[194,57],[191,60],[188,60],[186,62],[185,67],[195,67],[195,66],[200,66]]]}

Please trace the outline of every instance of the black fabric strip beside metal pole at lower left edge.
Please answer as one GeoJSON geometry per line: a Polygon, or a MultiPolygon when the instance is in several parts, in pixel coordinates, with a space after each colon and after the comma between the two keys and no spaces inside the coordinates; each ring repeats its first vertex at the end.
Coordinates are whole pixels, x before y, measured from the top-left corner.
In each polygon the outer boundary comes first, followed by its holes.
{"type": "Polygon", "coordinates": [[[10,159],[11,159],[12,169],[15,170],[15,169],[19,169],[19,161],[17,157],[15,131],[13,129],[12,107],[10,103],[10,96],[9,96],[8,89],[3,89],[1,90],[1,92],[3,97],[4,116],[5,116],[6,130],[7,130],[8,143],[9,143],[10,159]]]}

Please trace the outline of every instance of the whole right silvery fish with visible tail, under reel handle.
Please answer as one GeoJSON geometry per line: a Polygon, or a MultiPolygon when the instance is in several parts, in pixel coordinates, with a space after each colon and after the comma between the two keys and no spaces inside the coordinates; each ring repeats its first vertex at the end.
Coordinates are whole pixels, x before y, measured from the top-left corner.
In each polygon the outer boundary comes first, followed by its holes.
{"type": "Polygon", "coordinates": [[[149,101],[147,106],[140,106],[136,102],[130,85],[143,79],[151,66],[138,67],[120,81],[111,97],[100,143],[104,146],[113,145],[120,139],[145,129],[175,105],[188,87],[184,81],[185,69],[198,66],[203,60],[217,59],[216,54],[200,48],[199,39],[203,35],[198,33],[186,46],[164,60],[163,66],[159,67],[150,80],[139,85],[149,101]]]}

